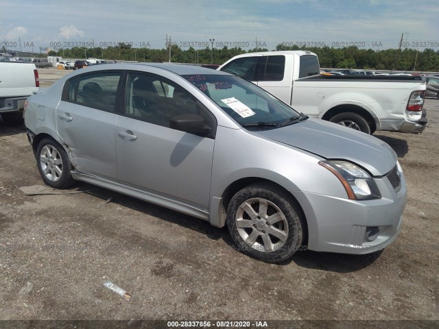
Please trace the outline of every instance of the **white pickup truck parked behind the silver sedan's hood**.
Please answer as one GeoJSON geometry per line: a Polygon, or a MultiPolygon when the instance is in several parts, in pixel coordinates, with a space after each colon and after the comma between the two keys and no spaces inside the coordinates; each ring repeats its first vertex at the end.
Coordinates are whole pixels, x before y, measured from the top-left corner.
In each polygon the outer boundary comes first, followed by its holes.
{"type": "Polygon", "coordinates": [[[427,123],[422,77],[320,75],[317,55],[311,51],[245,53],[218,70],[261,86],[298,112],[367,134],[416,134],[427,123]]]}

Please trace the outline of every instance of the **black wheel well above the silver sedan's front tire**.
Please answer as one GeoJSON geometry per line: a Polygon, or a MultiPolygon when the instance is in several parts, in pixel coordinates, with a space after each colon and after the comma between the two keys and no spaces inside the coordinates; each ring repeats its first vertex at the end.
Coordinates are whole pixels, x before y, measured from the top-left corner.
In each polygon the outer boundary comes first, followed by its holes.
{"type": "Polygon", "coordinates": [[[270,186],[283,190],[285,193],[287,193],[287,195],[289,195],[289,197],[291,198],[290,201],[294,203],[296,209],[298,209],[298,212],[300,212],[298,215],[300,216],[300,218],[303,219],[303,223],[305,227],[303,228],[304,234],[303,234],[302,244],[306,245],[308,243],[308,223],[307,223],[307,217],[305,216],[305,212],[303,212],[302,206],[300,206],[297,199],[294,197],[294,195],[292,195],[292,193],[287,191],[287,189],[285,189],[283,186],[275,182],[272,182],[271,180],[265,180],[264,178],[259,178],[259,177],[248,177],[248,178],[241,178],[240,180],[233,182],[226,188],[226,190],[222,194],[222,205],[224,206],[224,210],[227,212],[228,204],[230,203],[230,199],[232,199],[233,195],[235,195],[242,188],[255,183],[269,184],[270,186]]]}

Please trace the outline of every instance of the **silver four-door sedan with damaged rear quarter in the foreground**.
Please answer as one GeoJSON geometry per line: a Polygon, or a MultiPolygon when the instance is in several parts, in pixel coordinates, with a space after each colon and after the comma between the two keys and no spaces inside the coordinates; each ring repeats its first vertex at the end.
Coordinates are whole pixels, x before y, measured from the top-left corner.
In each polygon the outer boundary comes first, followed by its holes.
{"type": "Polygon", "coordinates": [[[81,180],[227,225],[237,249],[267,262],[376,252],[401,228],[390,146],[221,71],[92,66],[29,97],[25,125],[45,184],[81,180]]]}

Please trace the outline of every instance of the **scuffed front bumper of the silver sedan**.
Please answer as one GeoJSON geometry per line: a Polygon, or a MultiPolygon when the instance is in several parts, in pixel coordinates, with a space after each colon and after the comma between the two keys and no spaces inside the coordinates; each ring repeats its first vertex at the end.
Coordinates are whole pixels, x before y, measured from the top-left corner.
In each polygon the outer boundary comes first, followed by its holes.
{"type": "Polygon", "coordinates": [[[385,177],[375,182],[381,199],[357,201],[307,192],[295,195],[307,217],[307,249],[368,254],[390,245],[401,230],[407,197],[405,179],[401,173],[396,191],[385,177]]]}

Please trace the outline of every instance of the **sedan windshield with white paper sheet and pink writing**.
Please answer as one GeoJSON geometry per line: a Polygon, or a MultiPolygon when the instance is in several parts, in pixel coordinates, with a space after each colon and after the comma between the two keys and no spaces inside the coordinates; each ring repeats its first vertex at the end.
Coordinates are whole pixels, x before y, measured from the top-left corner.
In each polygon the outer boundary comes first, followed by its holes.
{"type": "Polygon", "coordinates": [[[300,114],[262,88],[231,75],[183,75],[240,125],[265,130],[293,123],[300,114]]]}

